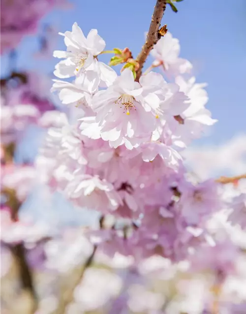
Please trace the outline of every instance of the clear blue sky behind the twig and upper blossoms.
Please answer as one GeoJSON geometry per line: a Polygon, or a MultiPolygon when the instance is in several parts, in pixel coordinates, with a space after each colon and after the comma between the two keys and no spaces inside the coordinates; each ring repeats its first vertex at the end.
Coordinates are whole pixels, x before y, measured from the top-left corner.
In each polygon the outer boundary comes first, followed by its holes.
{"type": "MultiPolygon", "coordinates": [[[[129,47],[136,56],[144,43],[155,0],[70,0],[70,10],[55,10],[43,23],[55,24],[59,31],[70,30],[77,22],[87,34],[97,28],[106,48],[129,47]]],[[[194,65],[198,82],[208,83],[208,108],[219,122],[201,144],[219,144],[235,134],[246,132],[246,1],[184,0],[178,13],[168,7],[163,24],[179,38],[181,56],[194,65]]],[[[19,68],[52,73],[56,59],[37,60],[37,39],[26,37],[19,46],[19,68]]],[[[55,49],[63,50],[59,36],[55,49]]],[[[110,55],[102,56],[107,62],[110,55]]],[[[2,72],[6,65],[3,58],[2,72]]],[[[151,58],[150,58],[151,60],[151,58]]],[[[147,62],[150,64],[150,60],[147,62]]]]}

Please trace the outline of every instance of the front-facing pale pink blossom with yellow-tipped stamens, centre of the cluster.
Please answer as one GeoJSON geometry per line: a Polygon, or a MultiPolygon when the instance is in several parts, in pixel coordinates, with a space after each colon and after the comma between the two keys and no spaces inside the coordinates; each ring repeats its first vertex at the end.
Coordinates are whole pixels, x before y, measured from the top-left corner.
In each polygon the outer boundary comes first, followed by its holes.
{"type": "Polygon", "coordinates": [[[154,90],[144,95],[143,88],[128,69],[92,100],[100,136],[114,148],[124,144],[132,149],[148,140],[156,125],[158,105],[159,98],[154,90]]]}

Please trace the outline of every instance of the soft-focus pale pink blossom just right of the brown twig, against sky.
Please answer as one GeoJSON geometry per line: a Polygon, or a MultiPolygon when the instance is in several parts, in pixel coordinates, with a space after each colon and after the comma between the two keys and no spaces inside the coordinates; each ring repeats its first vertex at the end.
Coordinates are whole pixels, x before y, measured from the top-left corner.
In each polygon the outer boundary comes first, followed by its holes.
{"type": "Polygon", "coordinates": [[[154,66],[163,65],[168,76],[176,76],[190,72],[192,65],[188,60],[179,57],[180,43],[177,38],[173,38],[170,32],[167,32],[154,45],[152,55],[155,58],[154,66]]]}

